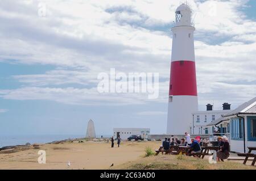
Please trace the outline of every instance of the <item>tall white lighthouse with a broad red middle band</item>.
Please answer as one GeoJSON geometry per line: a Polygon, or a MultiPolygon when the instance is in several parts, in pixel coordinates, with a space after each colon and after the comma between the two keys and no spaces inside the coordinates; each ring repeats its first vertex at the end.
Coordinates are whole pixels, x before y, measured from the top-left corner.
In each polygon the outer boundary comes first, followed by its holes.
{"type": "Polygon", "coordinates": [[[174,135],[191,132],[192,112],[198,109],[192,11],[183,3],[175,14],[167,118],[167,134],[174,135]]]}

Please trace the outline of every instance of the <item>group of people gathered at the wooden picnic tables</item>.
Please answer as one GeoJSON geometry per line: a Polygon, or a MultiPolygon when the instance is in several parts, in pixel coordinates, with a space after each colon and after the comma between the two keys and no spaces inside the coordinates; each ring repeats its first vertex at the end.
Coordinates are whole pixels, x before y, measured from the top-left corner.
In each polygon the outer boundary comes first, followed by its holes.
{"type": "MultiPolygon", "coordinates": [[[[189,146],[191,148],[190,153],[200,153],[201,146],[199,141],[195,138],[191,138],[190,135],[186,132],[185,138],[181,138],[179,140],[177,137],[175,138],[165,138],[163,141],[163,149],[169,150],[170,146],[179,145],[179,146],[189,146]]],[[[224,161],[224,159],[229,157],[229,142],[228,137],[218,137],[218,151],[217,151],[217,161],[224,161]]]]}

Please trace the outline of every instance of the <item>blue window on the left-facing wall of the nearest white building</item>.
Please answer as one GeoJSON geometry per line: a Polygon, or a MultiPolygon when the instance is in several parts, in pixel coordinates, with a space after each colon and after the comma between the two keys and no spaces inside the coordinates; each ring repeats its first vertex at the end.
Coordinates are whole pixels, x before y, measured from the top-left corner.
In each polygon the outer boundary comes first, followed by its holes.
{"type": "Polygon", "coordinates": [[[242,140],[243,138],[243,121],[242,119],[232,119],[230,121],[230,131],[232,140],[242,140]]]}

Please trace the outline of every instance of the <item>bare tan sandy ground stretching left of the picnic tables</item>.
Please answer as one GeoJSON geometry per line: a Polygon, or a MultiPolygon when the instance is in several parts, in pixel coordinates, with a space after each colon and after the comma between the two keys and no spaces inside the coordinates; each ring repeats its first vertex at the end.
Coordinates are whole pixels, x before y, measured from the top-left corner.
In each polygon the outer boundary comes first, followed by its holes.
{"type": "Polygon", "coordinates": [[[109,169],[112,163],[118,169],[118,165],[142,158],[146,146],[155,150],[159,145],[158,141],[123,141],[120,148],[117,144],[110,148],[110,142],[93,141],[46,144],[39,149],[0,154],[0,169],[109,169]],[[46,164],[38,163],[39,150],[46,151],[46,164]]]}

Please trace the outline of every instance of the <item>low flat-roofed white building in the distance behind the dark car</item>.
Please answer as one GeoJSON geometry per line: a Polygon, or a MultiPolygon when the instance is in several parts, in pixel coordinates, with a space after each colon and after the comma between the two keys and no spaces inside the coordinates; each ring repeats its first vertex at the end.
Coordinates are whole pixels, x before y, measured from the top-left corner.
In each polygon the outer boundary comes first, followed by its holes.
{"type": "Polygon", "coordinates": [[[141,135],[147,139],[150,136],[150,128],[113,128],[114,139],[120,136],[121,140],[127,140],[131,135],[141,135]]]}

